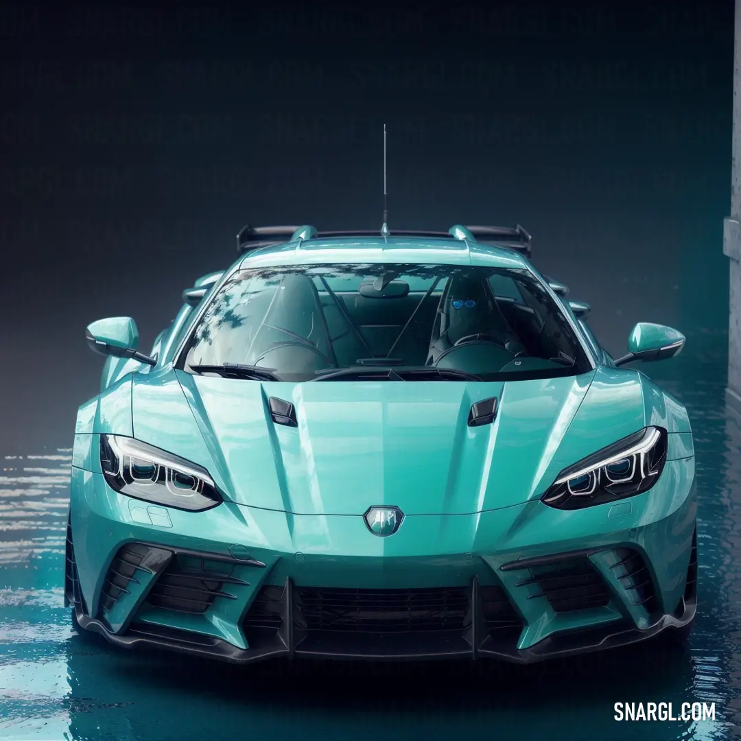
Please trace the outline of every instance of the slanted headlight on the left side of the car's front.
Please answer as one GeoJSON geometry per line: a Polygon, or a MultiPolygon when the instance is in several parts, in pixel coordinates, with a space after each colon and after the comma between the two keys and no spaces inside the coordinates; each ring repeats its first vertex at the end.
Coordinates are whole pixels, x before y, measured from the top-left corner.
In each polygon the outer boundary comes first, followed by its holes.
{"type": "Polygon", "coordinates": [[[110,488],[134,499],[191,512],[222,501],[205,468],[131,437],[101,435],[100,465],[110,488]]]}

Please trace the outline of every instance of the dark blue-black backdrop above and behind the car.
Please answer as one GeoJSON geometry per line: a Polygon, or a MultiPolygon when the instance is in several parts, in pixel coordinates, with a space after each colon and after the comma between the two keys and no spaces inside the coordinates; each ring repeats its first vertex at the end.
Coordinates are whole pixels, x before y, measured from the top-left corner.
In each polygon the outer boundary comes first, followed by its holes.
{"type": "MultiPolygon", "coordinates": [[[[622,354],[728,327],[733,2],[0,8],[0,449],[65,445],[245,222],[514,225],[622,354]]],[[[720,359],[718,362],[725,362],[720,359]]]]}

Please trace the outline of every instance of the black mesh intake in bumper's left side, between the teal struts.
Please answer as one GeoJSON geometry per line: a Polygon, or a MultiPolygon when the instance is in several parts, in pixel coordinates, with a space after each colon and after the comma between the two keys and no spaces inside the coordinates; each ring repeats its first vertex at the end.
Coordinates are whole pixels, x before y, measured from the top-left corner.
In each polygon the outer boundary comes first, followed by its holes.
{"type": "Polygon", "coordinates": [[[243,584],[232,567],[198,556],[175,556],[147,595],[147,605],[164,610],[203,614],[219,597],[236,599],[225,585],[243,584]]]}

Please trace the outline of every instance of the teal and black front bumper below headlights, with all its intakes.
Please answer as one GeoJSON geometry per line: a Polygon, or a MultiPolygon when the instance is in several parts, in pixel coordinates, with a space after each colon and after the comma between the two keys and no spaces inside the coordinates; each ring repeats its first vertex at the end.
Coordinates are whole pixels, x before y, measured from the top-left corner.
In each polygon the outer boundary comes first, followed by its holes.
{"type": "Polygon", "coordinates": [[[528,502],[409,516],[399,533],[377,538],[362,517],[227,503],[170,510],[165,525],[162,508],[144,503],[143,517],[142,502],[74,469],[65,595],[81,628],[124,647],[231,662],[528,663],[694,619],[694,460],[668,462],[657,485],[629,501],[617,514],[528,502]]]}

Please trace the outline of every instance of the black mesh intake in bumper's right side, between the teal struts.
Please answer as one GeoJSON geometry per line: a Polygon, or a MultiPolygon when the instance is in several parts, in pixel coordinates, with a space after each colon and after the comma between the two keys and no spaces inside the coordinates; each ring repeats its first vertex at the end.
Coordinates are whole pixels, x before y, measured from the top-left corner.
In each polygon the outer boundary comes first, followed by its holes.
{"type": "Polygon", "coordinates": [[[556,612],[576,612],[604,607],[610,602],[610,591],[602,576],[585,558],[574,558],[532,568],[533,579],[540,588],[534,597],[545,597],[556,612]]]}

